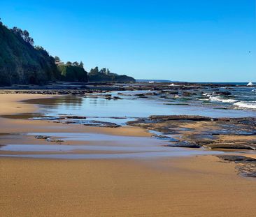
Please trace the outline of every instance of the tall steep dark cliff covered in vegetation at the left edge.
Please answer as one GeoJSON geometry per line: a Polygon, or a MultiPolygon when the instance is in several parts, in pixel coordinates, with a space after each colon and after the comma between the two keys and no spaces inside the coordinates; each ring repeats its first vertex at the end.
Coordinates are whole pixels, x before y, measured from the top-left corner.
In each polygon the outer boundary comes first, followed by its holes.
{"type": "Polygon", "coordinates": [[[57,80],[55,59],[0,24],[0,85],[44,84],[57,80]]]}

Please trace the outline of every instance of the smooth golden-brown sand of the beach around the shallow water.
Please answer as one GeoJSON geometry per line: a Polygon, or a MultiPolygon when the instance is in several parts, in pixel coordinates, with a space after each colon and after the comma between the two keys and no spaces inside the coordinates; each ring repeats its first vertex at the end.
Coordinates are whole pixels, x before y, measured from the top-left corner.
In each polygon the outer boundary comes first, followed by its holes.
{"type": "MultiPolygon", "coordinates": [[[[36,112],[0,95],[0,114],[36,112]]],[[[92,128],[0,118],[0,133],[99,132],[149,137],[141,128],[92,128]]],[[[3,141],[8,143],[8,141],[3,141]]],[[[22,141],[21,141],[22,142],[22,141]]],[[[255,216],[255,179],[215,156],[57,160],[0,158],[1,216],[255,216]]]]}

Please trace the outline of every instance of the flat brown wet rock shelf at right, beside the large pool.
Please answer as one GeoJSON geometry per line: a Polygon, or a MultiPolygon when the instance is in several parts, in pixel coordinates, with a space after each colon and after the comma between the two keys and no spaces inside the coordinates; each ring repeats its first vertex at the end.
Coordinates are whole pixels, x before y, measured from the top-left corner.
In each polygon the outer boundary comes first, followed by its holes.
{"type": "MultiPolygon", "coordinates": [[[[191,115],[150,116],[131,126],[172,135],[168,147],[256,150],[256,118],[211,118],[191,115]]],[[[159,136],[158,136],[159,137],[159,136]]],[[[159,137],[159,139],[162,139],[159,137]]]]}

